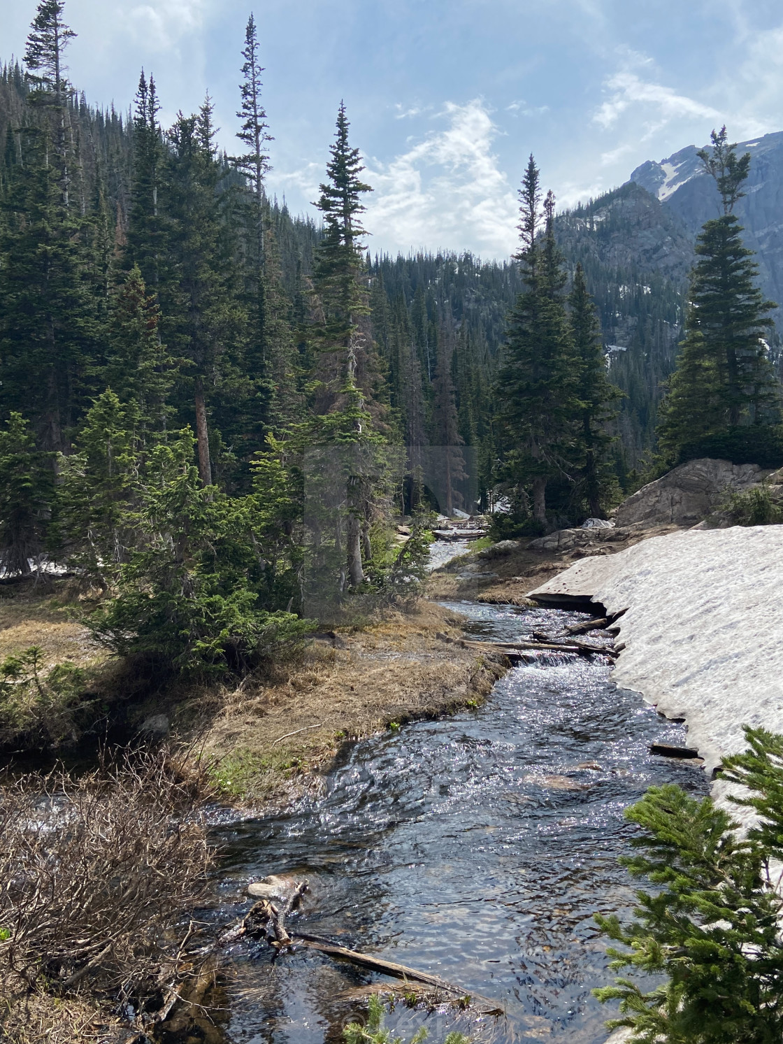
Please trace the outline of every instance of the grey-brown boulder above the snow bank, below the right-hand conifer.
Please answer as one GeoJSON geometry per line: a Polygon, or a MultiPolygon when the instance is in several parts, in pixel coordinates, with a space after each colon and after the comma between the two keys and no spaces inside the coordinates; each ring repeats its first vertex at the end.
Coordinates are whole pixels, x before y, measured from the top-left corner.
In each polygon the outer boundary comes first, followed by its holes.
{"type": "Polygon", "coordinates": [[[694,525],[730,494],[744,492],[759,482],[762,474],[755,464],[710,457],[688,460],[623,501],[615,520],[618,526],[694,525]]]}

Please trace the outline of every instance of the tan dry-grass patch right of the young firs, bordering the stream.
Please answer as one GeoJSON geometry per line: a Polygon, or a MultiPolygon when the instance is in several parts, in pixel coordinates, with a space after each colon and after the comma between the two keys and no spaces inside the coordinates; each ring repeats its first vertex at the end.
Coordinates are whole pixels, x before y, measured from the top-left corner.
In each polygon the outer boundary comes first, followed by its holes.
{"type": "Polygon", "coordinates": [[[267,684],[194,693],[174,728],[219,759],[221,785],[262,807],[317,791],[340,748],[407,721],[478,706],[507,661],[460,644],[460,620],[420,602],[332,632],[267,684]]]}

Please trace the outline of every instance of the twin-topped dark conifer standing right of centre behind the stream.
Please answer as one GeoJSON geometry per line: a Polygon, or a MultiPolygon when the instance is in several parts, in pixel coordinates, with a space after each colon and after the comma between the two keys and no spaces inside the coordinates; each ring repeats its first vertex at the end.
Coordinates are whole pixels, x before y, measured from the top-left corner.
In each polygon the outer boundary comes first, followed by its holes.
{"type": "Polygon", "coordinates": [[[541,220],[539,170],[530,157],[520,191],[522,251],[518,256],[525,290],[508,317],[497,396],[505,428],[507,471],[532,488],[532,519],[546,525],[546,484],[560,477],[574,441],[577,365],[563,304],[565,276],[554,242],[554,198],[541,220]]]}

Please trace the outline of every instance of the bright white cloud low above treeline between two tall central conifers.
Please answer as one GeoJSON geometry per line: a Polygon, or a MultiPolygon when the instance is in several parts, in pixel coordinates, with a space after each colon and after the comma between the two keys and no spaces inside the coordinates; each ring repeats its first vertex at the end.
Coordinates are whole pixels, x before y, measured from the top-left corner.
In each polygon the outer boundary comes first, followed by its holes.
{"type": "Polygon", "coordinates": [[[447,102],[441,118],[445,129],[367,170],[375,187],[365,222],[372,246],[507,257],[517,246],[517,201],[492,150],[499,130],[480,99],[447,102]]]}

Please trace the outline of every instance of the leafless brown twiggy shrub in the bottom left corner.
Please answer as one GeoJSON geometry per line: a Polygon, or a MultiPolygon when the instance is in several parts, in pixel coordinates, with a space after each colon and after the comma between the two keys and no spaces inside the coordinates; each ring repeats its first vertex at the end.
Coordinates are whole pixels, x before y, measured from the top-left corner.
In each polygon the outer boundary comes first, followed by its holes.
{"type": "MultiPolygon", "coordinates": [[[[0,788],[0,972],[26,989],[164,997],[194,940],[212,851],[206,775],[165,751],[0,788]]],[[[197,934],[197,933],[196,933],[197,934]]]]}

